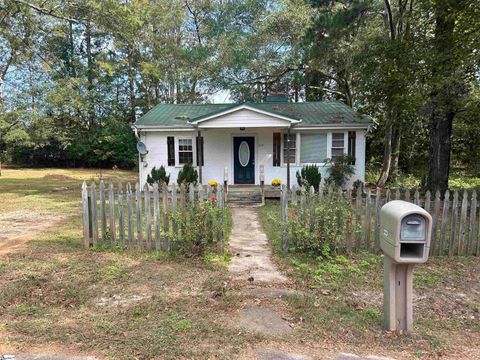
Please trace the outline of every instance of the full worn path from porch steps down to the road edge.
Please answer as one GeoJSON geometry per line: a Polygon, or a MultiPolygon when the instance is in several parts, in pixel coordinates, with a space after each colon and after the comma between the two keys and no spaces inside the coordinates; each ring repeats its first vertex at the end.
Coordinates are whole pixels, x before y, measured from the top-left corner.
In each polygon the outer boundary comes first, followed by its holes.
{"type": "MultiPolygon", "coordinates": [[[[262,334],[271,339],[272,345],[262,344],[251,349],[245,358],[257,360],[313,360],[306,355],[311,349],[297,348],[292,351],[286,341],[293,333],[295,325],[289,321],[288,306],[284,297],[304,296],[302,292],[289,288],[287,277],[272,261],[272,250],[266,234],[260,225],[258,207],[232,206],[233,229],[230,236],[230,248],[233,258],[229,266],[233,280],[240,285],[238,294],[243,297],[237,324],[247,331],[262,334]],[[279,344],[286,351],[279,350],[279,344]],[[284,347],[284,346],[281,346],[284,347]],[[299,353],[300,352],[300,353],[299,353]],[[302,354],[303,353],[303,354],[302,354]],[[306,354],[305,354],[306,353],[306,354]]],[[[338,351],[338,350],[337,350],[338,351]]],[[[360,357],[355,354],[338,353],[322,357],[332,360],[371,360],[384,357],[360,357]]]]}

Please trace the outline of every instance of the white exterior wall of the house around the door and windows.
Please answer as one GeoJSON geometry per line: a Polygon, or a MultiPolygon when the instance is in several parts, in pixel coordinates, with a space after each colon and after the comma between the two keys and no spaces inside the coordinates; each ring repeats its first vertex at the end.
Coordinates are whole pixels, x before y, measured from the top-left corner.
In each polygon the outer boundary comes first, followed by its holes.
{"type": "MultiPolygon", "coordinates": [[[[224,168],[228,168],[228,183],[233,184],[233,136],[254,136],[255,137],[255,183],[259,184],[260,165],[265,169],[265,183],[270,184],[273,179],[280,179],[282,183],[287,182],[286,165],[273,167],[273,132],[283,131],[280,128],[247,128],[240,131],[239,128],[233,129],[204,129],[202,136],[204,137],[204,159],[205,165],[202,168],[203,183],[206,184],[210,180],[218,182],[223,181],[224,168]]],[[[346,130],[348,131],[348,130],[346,130]]],[[[350,184],[355,180],[365,180],[365,130],[356,130],[356,174],[350,180],[350,184]]],[[[330,131],[329,131],[330,132],[330,131]]],[[[331,132],[330,132],[331,133],[331,132]]],[[[170,182],[176,181],[178,171],[181,166],[167,165],[167,136],[178,137],[195,136],[194,131],[186,132],[143,132],[141,140],[147,146],[148,154],[145,161],[148,164],[143,167],[140,164],[140,180],[142,183],[146,181],[147,174],[156,166],[164,165],[167,173],[171,174],[170,182]]],[[[331,137],[331,136],[329,136],[331,137]]],[[[298,137],[297,137],[298,139],[298,137]]],[[[300,149],[300,143],[297,145],[300,149]]],[[[329,145],[330,146],[330,145],[329,145]]],[[[300,150],[297,150],[298,152],[300,150]]],[[[194,142],[194,154],[196,152],[194,142]]],[[[178,154],[175,154],[178,163],[178,154]]],[[[299,153],[297,159],[300,159],[299,153]]],[[[290,166],[291,184],[296,184],[296,172],[301,166],[290,166]]],[[[327,176],[327,168],[320,166],[322,179],[327,176]]]]}

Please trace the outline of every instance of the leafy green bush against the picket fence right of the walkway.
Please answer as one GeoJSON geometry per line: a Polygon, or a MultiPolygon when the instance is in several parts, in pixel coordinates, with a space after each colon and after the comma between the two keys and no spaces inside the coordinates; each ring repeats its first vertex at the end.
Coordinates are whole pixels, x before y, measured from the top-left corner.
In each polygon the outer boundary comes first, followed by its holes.
{"type": "Polygon", "coordinates": [[[290,250],[323,256],[338,253],[348,238],[347,224],[355,216],[348,200],[334,196],[331,201],[317,202],[313,224],[301,211],[294,208],[287,217],[290,250]]]}

